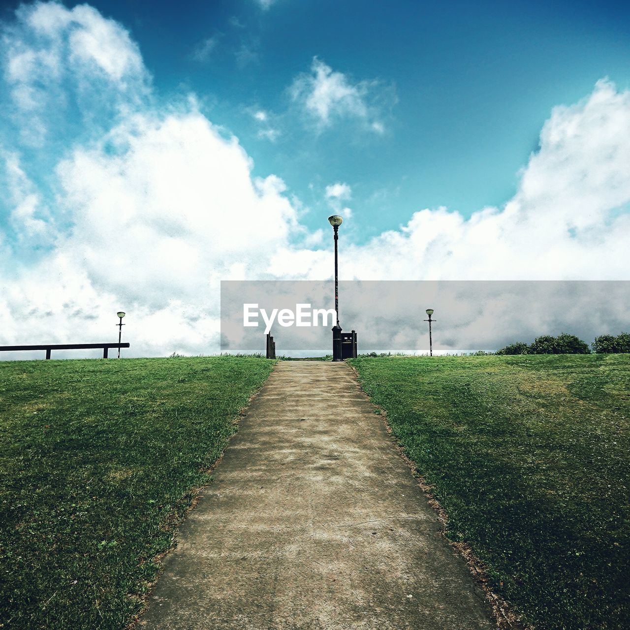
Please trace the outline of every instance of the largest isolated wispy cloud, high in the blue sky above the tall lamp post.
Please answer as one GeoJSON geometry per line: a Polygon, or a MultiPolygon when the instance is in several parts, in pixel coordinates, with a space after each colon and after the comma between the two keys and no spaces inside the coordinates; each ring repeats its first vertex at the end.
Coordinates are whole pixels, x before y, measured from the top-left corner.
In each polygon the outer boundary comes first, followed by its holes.
{"type": "Polygon", "coordinates": [[[360,121],[366,129],[384,133],[377,106],[372,103],[374,81],[352,83],[342,72],[333,71],[323,61],[314,57],[311,72],[304,72],[294,79],[290,96],[298,103],[320,129],[330,127],[341,118],[360,121]]]}

